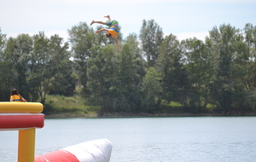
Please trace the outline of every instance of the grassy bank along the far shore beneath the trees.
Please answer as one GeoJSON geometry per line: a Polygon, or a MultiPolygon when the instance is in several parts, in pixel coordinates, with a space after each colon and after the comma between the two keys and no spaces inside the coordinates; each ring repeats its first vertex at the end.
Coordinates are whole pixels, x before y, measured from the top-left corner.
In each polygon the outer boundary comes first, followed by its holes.
{"type": "Polygon", "coordinates": [[[208,105],[207,109],[197,112],[189,110],[177,102],[162,101],[160,109],[152,109],[141,113],[109,113],[98,116],[100,107],[89,106],[80,95],[62,96],[47,95],[44,106],[45,118],[119,118],[119,117],[180,117],[180,116],[255,116],[256,113],[235,112],[231,114],[214,113],[214,107],[208,105]]]}

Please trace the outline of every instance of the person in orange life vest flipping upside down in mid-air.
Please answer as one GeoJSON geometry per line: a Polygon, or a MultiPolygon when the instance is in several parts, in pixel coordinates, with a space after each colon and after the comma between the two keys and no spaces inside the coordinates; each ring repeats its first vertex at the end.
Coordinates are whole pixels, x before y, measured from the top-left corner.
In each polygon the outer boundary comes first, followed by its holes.
{"type": "Polygon", "coordinates": [[[114,39],[116,45],[118,46],[118,50],[120,50],[119,41],[116,38],[117,35],[119,34],[119,22],[117,20],[111,20],[109,15],[106,15],[104,17],[108,18],[108,20],[106,22],[92,20],[90,23],[90,26],[93,25],[94,23],[109,26],[110,27],[109,29],[101,29],[101,30],[96,31],[96,33],[103,32],[103,31],[108,32],[108,33],[106,33],[106,37],[107,38],[112,37],[114,39]]]}

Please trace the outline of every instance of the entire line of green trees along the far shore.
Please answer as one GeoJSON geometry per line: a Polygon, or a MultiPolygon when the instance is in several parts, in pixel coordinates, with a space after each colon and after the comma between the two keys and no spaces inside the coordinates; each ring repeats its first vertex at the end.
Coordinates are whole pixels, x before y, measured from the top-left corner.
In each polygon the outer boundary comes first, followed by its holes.
{"type": "Polygon", "coordinates": [[[17,88],[27,101],[43,104],[47,94],[82,95],[101,113],[161,110],[172,108],[171,101],[189,113],[256,110],[256,26],[250,23],[213,26],[204,41],[180,41],[143,20],[138,35],[119,33],[120,51],[85,22],[67,32],[64,42],[44,32],[7,38],[0,31],[1,101],[17,88]]]}

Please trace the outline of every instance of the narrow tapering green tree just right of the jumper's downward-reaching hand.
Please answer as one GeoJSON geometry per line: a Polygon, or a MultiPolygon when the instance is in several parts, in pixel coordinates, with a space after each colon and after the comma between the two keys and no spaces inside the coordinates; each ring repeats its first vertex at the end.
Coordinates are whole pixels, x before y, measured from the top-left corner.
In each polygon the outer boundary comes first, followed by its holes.
{"type": "Polygon", "coordinates": [[[137,112],[141,106],[141,76],[137,73],[137,57],[131,46],[124,44],[119,55],[117,91],[119,93],[118,112],[137,112]]]}

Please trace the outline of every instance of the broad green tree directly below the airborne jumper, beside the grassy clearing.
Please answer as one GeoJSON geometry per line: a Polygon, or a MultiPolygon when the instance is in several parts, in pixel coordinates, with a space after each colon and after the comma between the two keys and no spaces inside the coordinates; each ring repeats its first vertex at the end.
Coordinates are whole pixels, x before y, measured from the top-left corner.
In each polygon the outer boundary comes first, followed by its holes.
{"type": "Polygon", "coordinates": [[[88,59],[88,88],[90,103],[102,106],[101,113],[112,113],[116,104],[116,73],[118,59],[113,46],[90,49],[88,59]]]}

